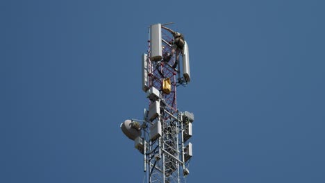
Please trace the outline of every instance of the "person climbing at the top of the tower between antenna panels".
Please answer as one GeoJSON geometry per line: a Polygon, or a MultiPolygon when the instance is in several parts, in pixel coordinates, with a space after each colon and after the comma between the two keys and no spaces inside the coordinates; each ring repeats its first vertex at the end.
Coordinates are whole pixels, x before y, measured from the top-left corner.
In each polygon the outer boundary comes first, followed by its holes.
{"type": "MultiPolygon", "coordinates": [[[[174,40],[173,40],[173,45],[172,45],[172,51],[169,55],[166,55],[166,60],[170,60],[170,58],[172,58],[172,55],[174,55],[175,51],[176,51],[176,62],[173,65],[173,68],[177,67],[177,64],[179,62],[179,53],[181,53],[183,55],[183,48],[184,48],[184,37],[183,34],[178,33],[170,28],[167,28],[165,26],[161,26],[162,28],[164,28],[165,30],[167,30],[169,33],[172,33],[174,40]]],[[[165,60],[165,59],[164,59],[165,60]]]]}

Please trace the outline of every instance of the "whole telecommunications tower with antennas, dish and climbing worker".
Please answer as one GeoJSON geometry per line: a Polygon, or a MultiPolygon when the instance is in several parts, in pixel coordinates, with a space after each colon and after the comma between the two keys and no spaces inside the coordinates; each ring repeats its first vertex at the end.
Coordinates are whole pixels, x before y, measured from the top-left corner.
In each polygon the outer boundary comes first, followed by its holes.
{"type": "Polygon", "coordinates": [[[149,100],[144,119],[121,124],[124,134],[143,155],[149,183],[185,182],[192,158],[189,139],[194,114],[179,111],[176,100],[176,87],[190,82],[188,43],[166,25],[148,28],[148,50],[142,55],[142,90],[149,100]]]}

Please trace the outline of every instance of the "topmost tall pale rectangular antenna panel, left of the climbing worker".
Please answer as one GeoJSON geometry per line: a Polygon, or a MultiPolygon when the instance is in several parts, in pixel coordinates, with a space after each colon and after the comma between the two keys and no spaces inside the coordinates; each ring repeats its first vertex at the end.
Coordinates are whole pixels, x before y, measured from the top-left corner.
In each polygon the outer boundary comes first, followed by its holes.
{"type": "Polygon", "coordinates": [[[150,56],[151,61],[160,61],[163,58],[161,43],[161,24],[150,26],[150,56]]]}

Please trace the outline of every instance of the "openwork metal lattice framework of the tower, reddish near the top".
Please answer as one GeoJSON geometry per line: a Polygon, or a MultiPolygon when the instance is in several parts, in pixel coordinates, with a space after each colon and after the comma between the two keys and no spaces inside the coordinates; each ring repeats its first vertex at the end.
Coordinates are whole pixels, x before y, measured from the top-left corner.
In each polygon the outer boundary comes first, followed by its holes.
{"type": "MultiPolygon", "coordinates": [[[[150,34],[150,33],[149,33],[150,34]]],[[[184,143],[182,141],[183,123],[181,112],[177,110],[176,87],[180,85],[179,75],[180,66],[174,69],[172,65],[175,62],[173,57],[169,62],[163,60],[151,61],[150,40],[148,40],[148,67],[149,67],[149,87],[155,87],[160,91],[160,115],[153,121],[145,119],[150,131],[153,123],[161,123],[162,134],[156,141],[149,141],[149,152],[145,159],[148,167],[147,180],[149,182],[185,182],[183,175],[183,151],[184,143]],[[169,94],[163,92],[163,80],[169,78],[171,91],[169,94]]],[[[167,31],[162,31],[162,49],[163,55],[171,52],[172,35],[167,31]]],[[[149,99],[149,106],[153,103],[149,99]]]]}

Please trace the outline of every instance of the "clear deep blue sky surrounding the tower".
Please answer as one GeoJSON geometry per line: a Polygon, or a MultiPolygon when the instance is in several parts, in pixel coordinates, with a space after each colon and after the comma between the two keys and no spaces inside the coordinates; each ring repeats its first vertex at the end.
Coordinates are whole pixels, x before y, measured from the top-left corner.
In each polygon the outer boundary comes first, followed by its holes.
{"type": "Polygon", "coordinates": [[[0,182],[142,182],[147,26],[190,46],[188,182],[325,182],[324,1],[1,1],[0,182]]]}

